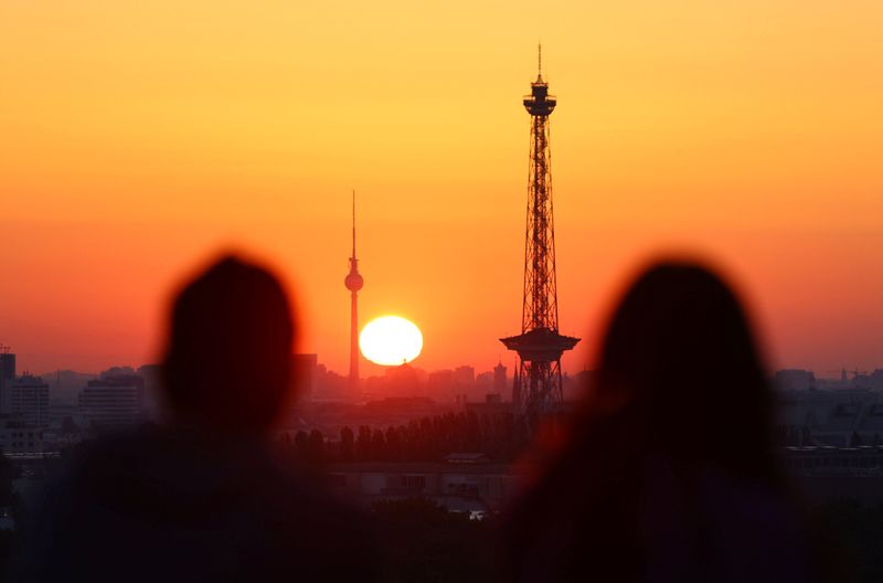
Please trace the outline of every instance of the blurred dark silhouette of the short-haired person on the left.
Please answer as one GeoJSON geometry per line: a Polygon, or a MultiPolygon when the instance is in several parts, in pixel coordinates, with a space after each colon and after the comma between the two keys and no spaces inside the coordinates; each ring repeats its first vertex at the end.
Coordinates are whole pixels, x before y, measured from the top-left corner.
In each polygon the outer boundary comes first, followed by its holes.
{"type": "Polygon", "coordinates": [[[267,271],[226,257],[174,301],[172,422],[98,442],[51,491],[25,549],[39,581],[373,581],[362,520],[266,448],[294,326],[267,271]]]}

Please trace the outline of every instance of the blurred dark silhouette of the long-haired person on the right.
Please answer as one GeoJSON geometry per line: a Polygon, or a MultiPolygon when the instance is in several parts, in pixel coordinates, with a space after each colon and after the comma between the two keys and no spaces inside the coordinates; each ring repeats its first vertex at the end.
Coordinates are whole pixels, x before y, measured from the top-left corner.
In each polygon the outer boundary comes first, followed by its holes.
{"type": "Polygon", "coordinates": [[[745,315],[706,268],[630,286],[567,445],[512,512],[514,581],[813,581],[745,315]]]}

